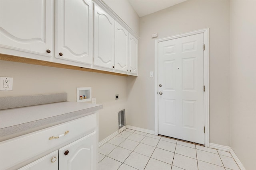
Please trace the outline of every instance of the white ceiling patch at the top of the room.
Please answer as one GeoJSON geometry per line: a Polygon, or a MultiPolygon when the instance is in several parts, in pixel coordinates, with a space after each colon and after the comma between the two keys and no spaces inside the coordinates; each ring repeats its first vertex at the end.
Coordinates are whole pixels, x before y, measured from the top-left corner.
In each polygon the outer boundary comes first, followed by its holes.
{"type": "Polygon", "coordinates": [[[186,0],[128,0],[139,17],[152,14],[186,0]]]}

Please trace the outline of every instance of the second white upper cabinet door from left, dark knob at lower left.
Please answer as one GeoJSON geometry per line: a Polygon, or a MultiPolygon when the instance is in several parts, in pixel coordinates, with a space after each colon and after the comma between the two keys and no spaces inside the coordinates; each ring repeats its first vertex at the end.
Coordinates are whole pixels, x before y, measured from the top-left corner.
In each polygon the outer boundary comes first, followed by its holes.
{"type": "Polygon", "coordinates": [[[92,64],[91,0],[56,0],[56,57],[92,64]]]}

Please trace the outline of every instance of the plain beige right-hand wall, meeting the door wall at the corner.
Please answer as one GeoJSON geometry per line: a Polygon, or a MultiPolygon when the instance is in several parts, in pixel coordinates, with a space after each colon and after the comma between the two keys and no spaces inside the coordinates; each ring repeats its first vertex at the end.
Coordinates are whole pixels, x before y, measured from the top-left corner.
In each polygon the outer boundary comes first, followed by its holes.
{"type": "Polygon", "coordinates": [[[230,1],[231,147],[256,167],[256,1],[230,1]]]}

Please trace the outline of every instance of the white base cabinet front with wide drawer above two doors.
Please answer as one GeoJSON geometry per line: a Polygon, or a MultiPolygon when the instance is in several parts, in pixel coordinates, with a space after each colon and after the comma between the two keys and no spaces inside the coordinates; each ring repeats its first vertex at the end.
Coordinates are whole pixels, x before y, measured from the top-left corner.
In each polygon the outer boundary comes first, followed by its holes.
{"type": "Polygon", "coordinates": [[[97,170],[98,112],[0,142],[0,170],[97,170]]]}

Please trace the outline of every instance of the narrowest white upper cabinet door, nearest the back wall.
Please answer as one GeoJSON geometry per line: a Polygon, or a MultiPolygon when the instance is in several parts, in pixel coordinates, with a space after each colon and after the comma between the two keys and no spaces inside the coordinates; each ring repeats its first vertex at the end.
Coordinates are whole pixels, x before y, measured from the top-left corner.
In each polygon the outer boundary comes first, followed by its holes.
{"type": "Polygon", "coordinates": [[[138,74],[138,39],[129,33],[129,73],[138,74]]]}

